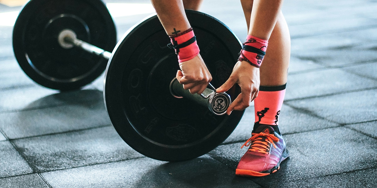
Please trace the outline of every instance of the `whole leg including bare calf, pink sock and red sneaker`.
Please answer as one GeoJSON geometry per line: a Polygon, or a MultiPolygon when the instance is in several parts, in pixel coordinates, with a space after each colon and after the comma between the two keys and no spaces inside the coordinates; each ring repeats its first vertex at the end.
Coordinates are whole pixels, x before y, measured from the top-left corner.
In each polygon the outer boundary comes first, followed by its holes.
{"type": "MultiPolygon", "coordinates": [[[[250,14],[247,11],[251,6],[243,4],[243,8],[244,11],[246,10],[247,23],[250,23],[250,19],[248,20],[250,14]]],[[[249,27],[248,24],[248,29],[249,27]]],[[[277,125],[285,95],[289,61],[290,35],[284,16],[279,11],[276,24],[268,40],[263,64],[260,67],[261,86],[258,97],[254,100],[253,136],[244,144],[244,146],[250,147],[238,164],[237,175],[265,176],[274,173],[280,168],[280,162],[288,157],[288,150],[286,150],[284,139],[277,125]],[[266,147],[269,149],[266,150],[266,147]],[[274,155],[270,155],[271,152],[274,155]],[[267,154],[266,160],[260,157],[261,153],[267,154]]]]}

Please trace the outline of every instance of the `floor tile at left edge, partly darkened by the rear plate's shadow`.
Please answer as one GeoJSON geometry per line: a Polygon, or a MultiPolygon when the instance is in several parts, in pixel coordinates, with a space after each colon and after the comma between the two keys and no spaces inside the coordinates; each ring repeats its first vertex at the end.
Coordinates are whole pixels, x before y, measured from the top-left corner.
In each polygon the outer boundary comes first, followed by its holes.
{"type": "Polygon", "coordinates": [[[103,100],[102,91],[85,89],[59,92],[36,85],[0,91],[0,112],[46,108],[92,100],[103,100]]]}

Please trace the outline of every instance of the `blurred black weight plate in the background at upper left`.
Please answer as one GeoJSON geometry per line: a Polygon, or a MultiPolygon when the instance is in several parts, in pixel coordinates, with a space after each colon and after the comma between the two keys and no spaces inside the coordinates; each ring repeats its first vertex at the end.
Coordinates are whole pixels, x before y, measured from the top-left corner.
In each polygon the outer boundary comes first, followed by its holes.
{"type": "Polygon", "coordinates": [[[22,70],[52,89],[78,89],[106,69],[107,59],[58,44],[61,30],[112,52],[116,44],[113,19],[101,0],[31,0],[21,10],[13,30],[13,49],[22,70]]]}

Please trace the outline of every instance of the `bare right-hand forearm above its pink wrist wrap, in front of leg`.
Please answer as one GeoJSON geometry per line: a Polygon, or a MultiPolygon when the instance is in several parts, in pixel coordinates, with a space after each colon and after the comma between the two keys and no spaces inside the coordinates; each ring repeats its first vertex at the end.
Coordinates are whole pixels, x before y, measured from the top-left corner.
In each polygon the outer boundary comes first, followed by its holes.
{"type": "Polygon", "coordinates": [[[248,35],[268,40],[281,11],[283,0],[241,0],[248,35]]]}

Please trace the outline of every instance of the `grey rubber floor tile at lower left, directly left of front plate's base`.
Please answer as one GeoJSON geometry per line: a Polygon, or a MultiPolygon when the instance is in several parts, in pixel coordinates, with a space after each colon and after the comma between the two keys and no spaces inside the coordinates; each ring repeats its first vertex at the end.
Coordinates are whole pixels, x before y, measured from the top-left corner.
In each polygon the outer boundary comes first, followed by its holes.
{"type": "Polygon", "coordinates": [[[13,141],[36,172],[139,158],[112,126],[13,141]]]}

